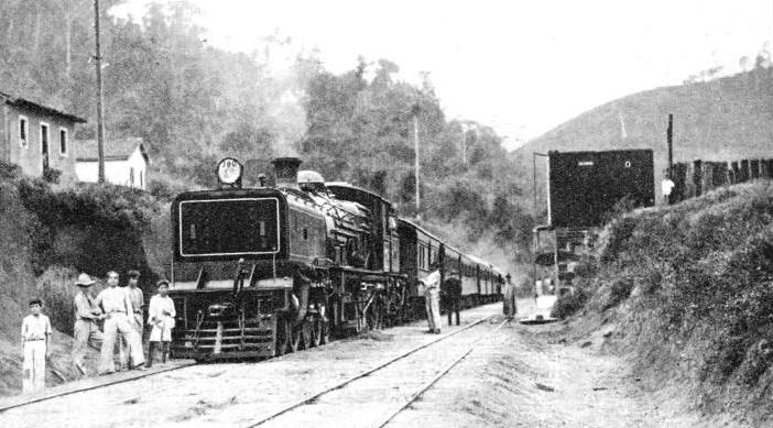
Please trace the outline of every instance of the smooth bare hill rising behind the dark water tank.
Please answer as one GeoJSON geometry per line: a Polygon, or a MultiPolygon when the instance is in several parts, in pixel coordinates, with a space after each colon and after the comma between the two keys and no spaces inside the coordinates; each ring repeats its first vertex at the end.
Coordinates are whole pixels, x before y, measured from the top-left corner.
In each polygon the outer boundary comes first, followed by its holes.
{"type": "MultiPolygon", "coordinates": [[[[652,149],[660,183],[667,163],[668,113],[674,114],[674,162],[773,157],[773,68],[633,94],[556,127],[511,155],[531,172],[533,152],[652,149]]],[[[543,172],[537,168],[538,184],[543,172]]]]}

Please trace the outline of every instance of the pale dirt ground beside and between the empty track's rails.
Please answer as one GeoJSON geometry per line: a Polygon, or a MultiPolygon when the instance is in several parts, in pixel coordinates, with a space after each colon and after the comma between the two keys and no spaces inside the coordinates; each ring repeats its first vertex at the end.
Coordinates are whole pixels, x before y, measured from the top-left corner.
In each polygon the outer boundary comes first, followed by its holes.
{"type": "MultiPolygon", "coordinates": [[[[527,304],[521,308],[519,315],[527,315],[527,304]]],[[[470,322],[500,311],[500,305],[489,305],[466,311],[462,320],[470,322]]],[[[412,385],[423,383],[417,382],[420,374],[432,377],[435,367],[439,371],[454,352],[462,351],[464,343],[472,342],[470,336],[482,336],[496,326],[473,327],[449,338],[433,352],[395,365],[384,377],[405,382],[363,382],[358,388],[341,389],[306,406],[293,418],[272,420],[271,426],[370,427],[379,419],[374,415],[393,409],[412,394],[412,385]],[[323,414],[324,420],[316,417],[323,414]]],[[[668,406],[669,397],[645,392],[622,360],[601,355],[585,343],[555,343],[556,334],[549,332],[557,327],[505,325],[478,342],[467,359],[389,426],[706,426],[688,414],[675,413],[675,407],[668,406]]],[[[244,427],[435,339],[424,334],[424,323],[414,323],[261,363],[181,369],[9,410],[0,414],[0,426],[244,427]]],[[[444,328],[444,333],[450,331],[444,328]]]]}

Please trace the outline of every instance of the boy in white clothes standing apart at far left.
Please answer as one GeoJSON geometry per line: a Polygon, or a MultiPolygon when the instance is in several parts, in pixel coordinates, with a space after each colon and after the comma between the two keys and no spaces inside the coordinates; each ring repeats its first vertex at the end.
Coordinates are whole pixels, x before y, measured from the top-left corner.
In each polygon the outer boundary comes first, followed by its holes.
{"type": "Polygon", "coordinates": [[[45,388],[45,360],[48,358],[51,320],[41,314],[43,301],[30,300],[30,315],[22,320],[22,392],[31,393],[45,388]]]}

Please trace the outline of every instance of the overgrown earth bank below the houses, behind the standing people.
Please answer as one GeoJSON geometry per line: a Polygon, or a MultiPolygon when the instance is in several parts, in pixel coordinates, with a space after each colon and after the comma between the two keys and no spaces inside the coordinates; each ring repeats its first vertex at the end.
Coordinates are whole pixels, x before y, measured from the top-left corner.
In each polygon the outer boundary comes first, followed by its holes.
{"type": "MultiPolygon", "coordinates": [[[[112,185],[56,189],[0,162],[0,396],[21,389],[19,329],[37,296],[51,317],[48,385],[78,376],[70,360],[78,273],[142,272],[141,287],[167,265],[167,210],[149,194],[112,185]]],[[[96,370],[96,351],[86,369],[96,370]]]]}

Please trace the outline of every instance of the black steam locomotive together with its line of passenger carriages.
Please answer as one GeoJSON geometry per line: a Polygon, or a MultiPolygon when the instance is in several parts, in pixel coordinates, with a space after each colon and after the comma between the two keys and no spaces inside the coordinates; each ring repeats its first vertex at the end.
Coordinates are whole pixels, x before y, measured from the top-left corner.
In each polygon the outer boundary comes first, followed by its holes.
{"type": "Polygon", "coordinates": [[[465,306],[500,298],[503,274],[491,264],[301,163],[276,158],[274,187],[242,188],[242,165],[225,158],[219,189],[174,199],[173,356],[282,355],[418,318],[418,278],[435,261],[442,281],[461,282],[465,306]]]}

